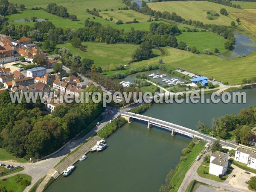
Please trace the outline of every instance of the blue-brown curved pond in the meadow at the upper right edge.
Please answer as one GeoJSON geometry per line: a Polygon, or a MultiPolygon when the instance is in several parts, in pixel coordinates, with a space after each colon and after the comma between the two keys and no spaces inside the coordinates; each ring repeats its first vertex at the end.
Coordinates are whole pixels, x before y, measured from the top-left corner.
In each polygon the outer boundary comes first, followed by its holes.
{"type": "Polygon", "coordinates": [[[222,55],[218,55],[220,58],[237,58],[242,55],[249,55],[256,49],[256,43],[252,41],[248,36],[234,33],[234,37],[236,38],[235,48],[232,51],[228,51],[222,55]]]}

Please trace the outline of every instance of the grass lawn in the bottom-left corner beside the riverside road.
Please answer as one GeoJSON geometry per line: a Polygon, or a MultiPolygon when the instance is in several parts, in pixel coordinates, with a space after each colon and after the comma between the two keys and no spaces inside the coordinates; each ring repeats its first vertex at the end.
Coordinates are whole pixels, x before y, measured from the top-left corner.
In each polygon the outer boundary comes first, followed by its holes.
{"type": "MultiPolygon", "coordinates": [[[[13,192],[23,192],[23,190],[26,188],[26,186],[23,186],[20,182],[15,182],[15,178],[17,175],[6,178],[5,181],[0,181],[1,185],[6,186],[7,191],[13,191],[13,192]]],[[[25,178],[29,181],[32,180],[32,177],[26,174],[19,174],[19,177],[25,178]]]]}

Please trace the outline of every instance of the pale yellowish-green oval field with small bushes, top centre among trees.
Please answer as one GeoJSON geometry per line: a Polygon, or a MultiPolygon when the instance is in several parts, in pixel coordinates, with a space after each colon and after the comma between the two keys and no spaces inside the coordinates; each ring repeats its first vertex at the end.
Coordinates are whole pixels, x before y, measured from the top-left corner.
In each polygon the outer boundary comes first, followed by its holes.
{"type": "Polygon", "coordinates": [[[139,22],[146,22],[149,19],[149,16],[143,15],[133,10],[119,10],[99,13],[104,19],[110,19],[110,17],[112,17],[113,22],[122,20],[123,23],[125,23],[126,21],[133,21],[134,19],[136,19],[139,22]]]}

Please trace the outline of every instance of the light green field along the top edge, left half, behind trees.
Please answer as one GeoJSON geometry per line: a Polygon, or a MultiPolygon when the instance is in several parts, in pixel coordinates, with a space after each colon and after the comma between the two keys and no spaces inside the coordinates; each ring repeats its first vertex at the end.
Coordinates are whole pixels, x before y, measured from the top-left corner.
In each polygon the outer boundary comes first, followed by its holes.
{"type": "MultiPolygon", "coordinates": [[[[26,8],[32,7],[43,7],[46,8],[50,3],[57,3],[58,5],[64,6],[67,8],[67,11],[70,14],[82,13],[86,9],[118,9],[119,7],[125,7],[125,4],[121,0],[9,0],[10,3],[17,3],[18,5],[24,4],[26,8]]],[[[76,15],[76,14],[75,14],[76,15]]]]}

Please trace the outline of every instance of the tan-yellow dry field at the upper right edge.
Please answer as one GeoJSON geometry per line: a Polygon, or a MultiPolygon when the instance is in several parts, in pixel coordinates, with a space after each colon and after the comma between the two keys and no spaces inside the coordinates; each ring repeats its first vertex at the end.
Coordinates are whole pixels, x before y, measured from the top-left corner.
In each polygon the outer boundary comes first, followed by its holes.
{"type": "MultiPolygon", "coordinates": [[[[256,2],[250,2],[250,3],[255,3],[255,5],[256,5],[256,2]]],[[[240,18],[241,23],[247,29],[249,29],[251,32],[256,34],[256,19],[255,19],[256,18],[256,9],[244,9],[244,10],[246,10],[246,12],[232,13],[232,14],[230,14],[230,16],[233,18],[240,18]]]]}

